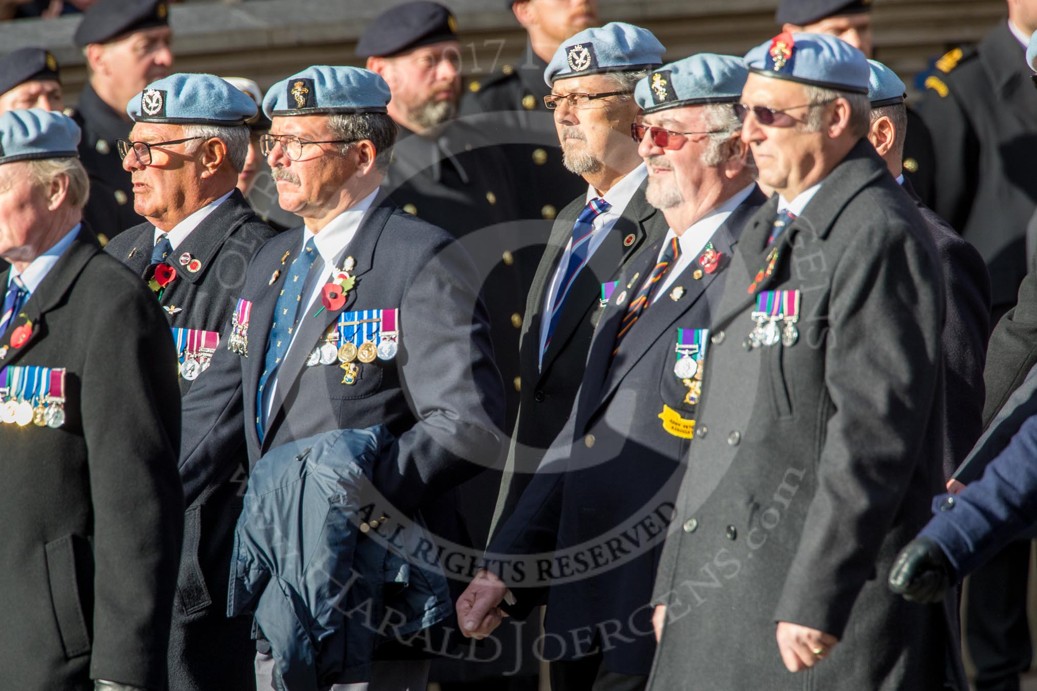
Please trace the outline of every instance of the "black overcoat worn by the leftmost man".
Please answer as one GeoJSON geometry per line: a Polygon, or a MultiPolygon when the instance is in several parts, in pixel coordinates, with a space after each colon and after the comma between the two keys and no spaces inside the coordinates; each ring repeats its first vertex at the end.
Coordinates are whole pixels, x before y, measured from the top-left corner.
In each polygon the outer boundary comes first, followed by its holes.
{"type": "MultiPolygon", "coordinates": [[[[166,684],[184,512],[173,356],[151,291],[90,236],[25,304],[32,336],[0,368],[65,368],[58,429],[0,425],[0,679],[88,691],[166,684]]],[[[7,273],[0,273],[6,287],[7,273]]]]}

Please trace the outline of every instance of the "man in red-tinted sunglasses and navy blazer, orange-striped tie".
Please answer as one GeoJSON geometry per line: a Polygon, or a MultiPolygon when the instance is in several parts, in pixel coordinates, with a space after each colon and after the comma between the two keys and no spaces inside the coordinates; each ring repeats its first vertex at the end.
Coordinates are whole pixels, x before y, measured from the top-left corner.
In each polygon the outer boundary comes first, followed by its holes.
{"type": "MultiPolygon", "coordinates": [[[[702,381],[686,368],[703,362],[703,329],[741,227],[765,201],[731,110],[747,75],[740,58],[699,54],[638,82],[645,123],[633,129],[648,168],[646,195],[669,230],[609,286],[576,409],[491,553],[521,559],[558,549],[578,560],[582,549],[563,546],[606,544],[632,516],[672,508],[702,381]]],[[[494,581],[483,573],[469,592],[479,609],[468,615],[480,622],[508,586],[515,598],[508,611],[524,615],[546,589],[552,688],[643,689],[655,650],[646,603],[666,531],[656,515],[634,535],[644,542],[628,560],[567,582],[494,581]],[[484,588],[491,583],[496,591],[484,588]],[[591,632],[586,646],[558,650],[570,631],[591,632]]]]}

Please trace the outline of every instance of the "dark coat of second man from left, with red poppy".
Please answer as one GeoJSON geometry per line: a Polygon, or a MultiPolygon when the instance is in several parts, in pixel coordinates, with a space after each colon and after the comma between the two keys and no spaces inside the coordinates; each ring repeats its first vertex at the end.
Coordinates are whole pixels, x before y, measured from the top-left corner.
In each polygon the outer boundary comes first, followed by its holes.
{"type": "MultiPolygon", "coordinates": [[[[222,335],[252,255],[274,235],[234,190],[166,258],[166,263],[176,268],[176,279],[160,300],[169,325],[222,335]],[[186,266],[192,259],[201,262],[197,271],[186,266]]],[[[142,223],[113,238],[105,251],[143,278],[153,244],[155,226],[142,223]]],[[[184,395],[198,381],[178,380],[184,395]]],[[[233,458],[235,473],[194,500],[184,516],[184,551],[169,651],[169,681],[177,691],[241,688],[255,676],[250,622],[228,620],[223,606],[234,525],[242,511],[241,484],[248,469],[244,448],[233,458]],[[214,646],[220,647],[219,657],[212,655],[214,646]]]]}

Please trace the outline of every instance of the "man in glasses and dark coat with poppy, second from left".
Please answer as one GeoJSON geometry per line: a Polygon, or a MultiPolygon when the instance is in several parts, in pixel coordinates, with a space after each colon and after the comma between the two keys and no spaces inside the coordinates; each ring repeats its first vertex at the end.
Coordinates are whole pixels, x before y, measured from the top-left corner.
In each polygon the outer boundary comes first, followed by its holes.
{"type": "MultiPolygon", "coordinates": [[[[127,106],[134,121],[116,143],[133,183],[133,208],[147,221],[105,251],[147,283],[177,346],[187,394],[205,370],[230,321],[245,268],[274,231],[235,189],[249,146],[255,103],[212,75],[172,75],[148,84],[127,106]]],[[[172,365],[171,363],[169,365],[172,365]]],[[[247,459],[231,455],[242,468],[247,459]]],[[[214,485],[187,507],[185,550],[169,645],[172,688],[242,688],[252,683],[249,622],[223,607],[239,484],[214,485]],[[219,647],[219,657],[213,650],[219,647]]]]}

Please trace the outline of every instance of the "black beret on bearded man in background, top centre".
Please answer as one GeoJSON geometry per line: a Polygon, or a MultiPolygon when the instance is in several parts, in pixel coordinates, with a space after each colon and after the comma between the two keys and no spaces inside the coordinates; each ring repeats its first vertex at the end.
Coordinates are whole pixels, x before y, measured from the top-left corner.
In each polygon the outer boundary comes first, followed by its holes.
{"type": "Polygon", "coordinates": [[[404,2],[367,25],[357,41],[357,56],[389,57],[441,40],[457,40],[453,12],[438,2],[404,2]]]}

